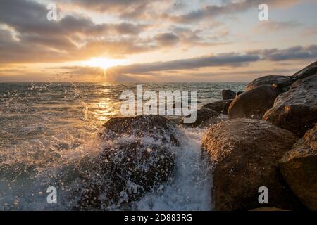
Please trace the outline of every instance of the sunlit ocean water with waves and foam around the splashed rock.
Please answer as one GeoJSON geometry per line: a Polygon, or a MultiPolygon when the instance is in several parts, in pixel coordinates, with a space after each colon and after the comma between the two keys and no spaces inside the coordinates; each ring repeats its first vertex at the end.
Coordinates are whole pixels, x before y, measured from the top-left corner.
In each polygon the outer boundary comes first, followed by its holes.
{"type": "MultiPolygon", "coordinates": [[[[0,210],[72,210],[82,187],[77,177],[82,158],[98,154],[99,132],[120,116],[125,90],[137,84],[1,83],[0,210]],[[49,186],[57,203],[46,201],[49,186]]],[[[142,84],[144,91],[197,91],[197,107],[221,99],[220,91],[244,91],[247,83],[142,84]]],[[[177,117],[170,117],[178,120],[177,117]]],[[[147,193],[133,210],[212,210],[211,167],[201,160],[204,129],[181,128],[182,150],[175,176],[163,190],[147,193]]],[[[119,210],[110,207],[105,210],[119,210]]]]}

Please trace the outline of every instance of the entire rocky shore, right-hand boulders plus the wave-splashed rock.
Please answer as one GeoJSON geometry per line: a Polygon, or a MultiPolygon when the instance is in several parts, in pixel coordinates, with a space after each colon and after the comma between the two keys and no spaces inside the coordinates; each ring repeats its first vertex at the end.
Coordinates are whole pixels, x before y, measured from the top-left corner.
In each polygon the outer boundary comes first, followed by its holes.
{"type": "MultiPolygon", "coordinates": [[[[178,124],[206,128],[201,148],[213,165],[213,210],[317,210],[317,62],[292,76],[255,79],[244,92],[223,90],[222,96],[197,110],[194,124],[178,124]],[[268,203],[261,204],[263,186],[268,203]]],[[[129,210],[132,201],[173,179],[178,125],[152,115],[106,122],[100,138],[107,145],[89,176],[82,174],[100,182],[87,182],[76,209],[111,210],[116,204],[129,210]]]]}

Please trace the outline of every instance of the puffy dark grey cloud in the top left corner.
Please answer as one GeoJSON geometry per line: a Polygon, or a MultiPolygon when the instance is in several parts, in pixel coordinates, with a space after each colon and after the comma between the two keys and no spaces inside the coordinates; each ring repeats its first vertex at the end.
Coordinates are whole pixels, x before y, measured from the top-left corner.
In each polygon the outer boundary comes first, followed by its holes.
{"type": "Polygon", "coordinates": [[[71,35],[82,34],[139,34],[146,25],[134,23],[95,24],[82,15],[66,15],[58,21],[46,19],[46,6],[34,1],[1,0],[0,23],[13,27],[21,34],[71,35]]]}

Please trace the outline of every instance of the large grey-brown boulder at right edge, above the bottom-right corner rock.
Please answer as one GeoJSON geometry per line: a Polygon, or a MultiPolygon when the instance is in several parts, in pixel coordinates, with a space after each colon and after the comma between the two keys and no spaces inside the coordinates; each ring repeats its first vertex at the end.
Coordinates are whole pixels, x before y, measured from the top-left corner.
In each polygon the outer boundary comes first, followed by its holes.
{"type": "Polygon", "coordinates": [[[299,79],[280,94],[264,120],[303,136],[317,122],[317,75],[299,79]]]}

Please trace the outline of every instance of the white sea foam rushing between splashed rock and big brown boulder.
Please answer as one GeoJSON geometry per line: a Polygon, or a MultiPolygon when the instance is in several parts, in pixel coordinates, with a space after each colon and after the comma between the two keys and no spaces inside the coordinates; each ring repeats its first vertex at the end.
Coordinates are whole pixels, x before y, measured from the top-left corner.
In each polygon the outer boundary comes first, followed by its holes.
{"type": "Polygon", "coordinates": [[[136,210],[211,210],[211,168],[201,158],[204,129],[182,129],[181,150],[176,155],[175,178],[161,190],[147,193],[136,210]]]}

